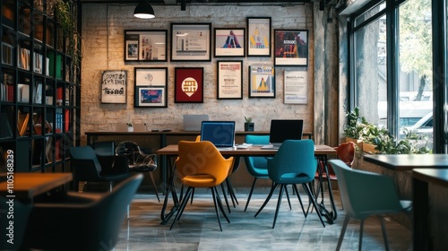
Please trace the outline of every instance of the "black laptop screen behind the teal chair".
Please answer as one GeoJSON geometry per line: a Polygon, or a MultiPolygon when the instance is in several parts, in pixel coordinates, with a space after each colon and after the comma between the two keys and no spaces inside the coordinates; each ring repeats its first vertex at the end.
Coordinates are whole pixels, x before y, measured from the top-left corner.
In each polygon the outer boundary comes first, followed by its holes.
{"type": "Polygon", "coordinates": [[[302,119],[272,119],[269,141],[280,145],[286,140],[301,140],[303,127],[302,119]]]}

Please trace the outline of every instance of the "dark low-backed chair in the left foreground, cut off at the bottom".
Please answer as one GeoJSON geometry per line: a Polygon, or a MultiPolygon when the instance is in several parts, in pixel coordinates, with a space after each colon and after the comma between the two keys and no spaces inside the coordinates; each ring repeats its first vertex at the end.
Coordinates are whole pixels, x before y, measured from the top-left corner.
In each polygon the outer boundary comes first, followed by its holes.
{"type": "Polygon", "coordinates": [[[69,192],[56,203],[35,203],[23,246],[43,250],[112,250],[142,174],[126,178],[112,192],[69,192]]]}

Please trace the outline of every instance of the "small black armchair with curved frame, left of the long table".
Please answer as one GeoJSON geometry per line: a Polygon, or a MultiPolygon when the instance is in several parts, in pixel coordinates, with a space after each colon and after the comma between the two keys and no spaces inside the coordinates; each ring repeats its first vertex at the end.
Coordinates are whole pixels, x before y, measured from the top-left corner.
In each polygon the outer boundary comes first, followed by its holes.
{"type": "Polygon", "coordinates": [[[157,200],[159,199],[159,192],[157,191],[157,186],[154,181],[154,176],[152,172],[157,169],[157,155],[156,154],[146,154],[142,152],[139,145],[132,141],[124,141],[118,143],[116,146],[116,155],[117,156],[125,156],[127,160],[127,164],[129,167],[129,171],[131,172],[148,172],[151,178],[152,186],[154,186],[154,190],[157,196],[157,200]]]}

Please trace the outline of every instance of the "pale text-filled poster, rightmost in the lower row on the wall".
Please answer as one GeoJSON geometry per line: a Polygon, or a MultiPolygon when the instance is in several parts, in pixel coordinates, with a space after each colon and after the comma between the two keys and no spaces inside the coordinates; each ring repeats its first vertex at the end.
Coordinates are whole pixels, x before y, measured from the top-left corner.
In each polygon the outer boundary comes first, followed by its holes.
{"type": "Polygon", "coordinates": [[[308,79],[306,70],[285,71],[284,102],[285,104],[307,104],[308,103],[308,79]]]}

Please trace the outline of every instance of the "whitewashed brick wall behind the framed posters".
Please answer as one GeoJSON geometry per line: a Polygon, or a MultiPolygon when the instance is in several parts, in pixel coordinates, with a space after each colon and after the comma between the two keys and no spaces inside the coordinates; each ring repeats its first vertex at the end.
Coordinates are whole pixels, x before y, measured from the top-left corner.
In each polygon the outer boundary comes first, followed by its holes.
{"type": "MultiPolygon", "coordinates": [[[[272,118],[301,118],[306,121],[304,131],[313,131],[314,58],[313,58],[313,6],[214,6],[188,5],[153,6],[156,18],[134,18],[134,4],[83,4],[82,6],[82,143],[84,132],[115,129],[117,123],[129,120],[146,122],[150,128],[182,128],[183,114],[209,114],[211,119],[235,120],[237,130],[244,130],[244,117],[253,117],[256,131],[269,130],[272,118]],[[211,22],[213,28],[246,28],[246,17],[271,17],[274,29],[309,30],[308,104],[283,104],[283,71],[297,69],[277,67],[275,73],[275,99],[248,98],[248,66],[273,65],[273,57],[220,57],[219,60],[243,60],[243,100],[217,100],[216,61],[211,51],[211,62],[148,63],[124,61],[124,30],[168,30],[170,44],[171,22],[211,22]],[[174,103],[174,68],[198,66],[204,68],[204,99],[201,104],[174,103]],[[168,108],[134,108],[134,67],[168,67],[168,108]],[[105,70],[127,71],[127,104],[101,104],[100,79],[105,70]]],[[[213,32],[212,32],[213,34],[213,32]]],[[[273,38],[271,38],[273,42],[273,38]]],[[[213,44],[213,39],[212,39],[213,44]]],[[[272,44],[273,47],[273,44],[272,44]]],[[[168,46],[168,61],[170,47],[168,46]]]]}

